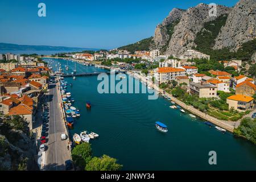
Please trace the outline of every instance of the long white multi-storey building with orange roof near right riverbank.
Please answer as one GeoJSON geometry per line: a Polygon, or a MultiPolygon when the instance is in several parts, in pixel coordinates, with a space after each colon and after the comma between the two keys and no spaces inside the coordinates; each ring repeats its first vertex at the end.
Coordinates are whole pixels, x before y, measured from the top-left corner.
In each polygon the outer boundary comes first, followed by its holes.
{"type": "Polygon", "coordinates": [[[180,68],[162,67],[156,68],[154,77],[159,83],[176,80],[177,76],[185,76],[185,70],[180,68]]]}

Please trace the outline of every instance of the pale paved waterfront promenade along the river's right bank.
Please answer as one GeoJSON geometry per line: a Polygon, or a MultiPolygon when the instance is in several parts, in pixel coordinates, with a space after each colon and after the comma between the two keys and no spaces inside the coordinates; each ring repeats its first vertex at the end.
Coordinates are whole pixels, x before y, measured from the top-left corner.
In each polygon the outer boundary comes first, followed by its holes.
{"type": "MultiPolygon", "coordinates": [[[[163,89],[160,89],[158,86],[152,84],[152,82],[146,80],[145,77],[143,77],[143,76],[141,76],[139,74],[136,74],[136,73],[135,73],[135,76],[141,78],[141,80],[143,80],[144,82],[147,82],[147,84],[149,86],[152,86],[158,92],[160,92],[160,93],[164,92],[163,89]]],[[[180,105],[181,107],[183,107],[185,110],[188,110],[189,112],[199,116],[200,118],[203,118],[203,119],[213,123],[214,125],[220,126],[220,127],[222,127],[222,128],[224,128],[224,129],[226,129],[226,130],[228,130],[228,131],[233,133],[234,125],[235,125],[236,122],[224,121],[224,120],[220,120],[220,119],[214,118],[214,117],[212,117],[212,116],[210,116],[210,115],[208,115],[206,113],[201,112],[200,110],[197,110],[193,106],[186,105],[184,102],[181,102],[180,100],[178,100],[177,98],[173,97],[171,94],[169,94],[167,92],[165,92],[164,94],[166,94],[168,97],[171,97],[172,101],[174,101],[177,105],[180,105]]]]}

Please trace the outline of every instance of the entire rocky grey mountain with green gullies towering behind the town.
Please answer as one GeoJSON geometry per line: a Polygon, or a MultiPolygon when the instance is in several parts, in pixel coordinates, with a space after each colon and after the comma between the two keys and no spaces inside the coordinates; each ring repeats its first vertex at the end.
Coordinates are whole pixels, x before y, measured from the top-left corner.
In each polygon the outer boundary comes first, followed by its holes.
{"type": "Polygon", "coordinates": [[[214,60],[256,60],[255,6],[255,0],[240,0],[234,7],[217,5],[216,16],[209,16],[204,3],[175,8],[156,26],[147,49],[175,56],[196,49],[214,60]]]}

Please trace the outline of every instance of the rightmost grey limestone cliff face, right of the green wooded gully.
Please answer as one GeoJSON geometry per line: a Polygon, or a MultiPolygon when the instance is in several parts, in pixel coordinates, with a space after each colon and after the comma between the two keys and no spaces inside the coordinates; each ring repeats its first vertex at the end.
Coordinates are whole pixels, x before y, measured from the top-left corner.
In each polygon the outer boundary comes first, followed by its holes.
{"type": "Polygon", "coordinates": [[[230,12],[218,34],[214,49],[237,51],[242,43],[256,38],[256,0],[241,0],[230,12]]]}

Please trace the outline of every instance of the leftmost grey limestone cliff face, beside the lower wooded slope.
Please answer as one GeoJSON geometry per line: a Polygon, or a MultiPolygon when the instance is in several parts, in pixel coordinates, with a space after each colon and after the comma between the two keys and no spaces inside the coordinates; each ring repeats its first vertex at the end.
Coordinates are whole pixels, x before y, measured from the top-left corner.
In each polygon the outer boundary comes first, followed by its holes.
{"type": "Polygon", "coordinates": [[[156,26],[153,39],[154,43],[151,45],[151,49],[162,49],[164,46],[168,46],[167,44],[170,41],[169,27],[172,23],[180,20],[184,11],[176,8],[172,9],[170,14],[164,18],[163,22],[156,26]]]}

